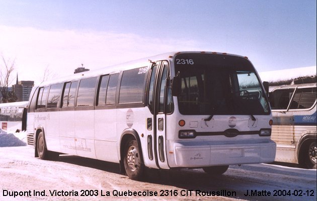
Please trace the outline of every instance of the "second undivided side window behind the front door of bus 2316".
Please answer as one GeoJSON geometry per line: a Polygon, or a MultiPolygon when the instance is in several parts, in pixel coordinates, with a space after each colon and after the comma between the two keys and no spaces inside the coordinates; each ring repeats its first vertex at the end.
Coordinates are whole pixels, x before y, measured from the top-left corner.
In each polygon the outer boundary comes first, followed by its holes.
{"type": "Polygon", "coordinates": [[[77,93],[77,106],[94,106],[97,77],[81,79],[77,93]]]}

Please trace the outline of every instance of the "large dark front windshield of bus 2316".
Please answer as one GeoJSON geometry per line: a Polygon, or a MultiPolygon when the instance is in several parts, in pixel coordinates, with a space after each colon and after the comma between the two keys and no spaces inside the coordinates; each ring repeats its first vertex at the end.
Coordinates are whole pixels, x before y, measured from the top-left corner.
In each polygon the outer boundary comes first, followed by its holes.
{"type": "Polygon", "coordinates": [[[183,115],[270,114],[259,78],[246,58],[179,54],[175,72],[181,81],[178,106],[183,115]]]}

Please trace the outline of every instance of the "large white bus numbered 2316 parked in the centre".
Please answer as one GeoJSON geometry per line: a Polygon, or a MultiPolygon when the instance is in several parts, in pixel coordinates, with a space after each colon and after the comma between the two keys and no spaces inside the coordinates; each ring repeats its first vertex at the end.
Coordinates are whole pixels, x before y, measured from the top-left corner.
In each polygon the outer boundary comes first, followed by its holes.
{"type": "Polygon", "coordinates": [[[29,102],[41,159],[115,162],[138,180],[144,167],[222,174],[275,158],[268,98],[247,57],[166,53],[43,82],[29,102]]]}

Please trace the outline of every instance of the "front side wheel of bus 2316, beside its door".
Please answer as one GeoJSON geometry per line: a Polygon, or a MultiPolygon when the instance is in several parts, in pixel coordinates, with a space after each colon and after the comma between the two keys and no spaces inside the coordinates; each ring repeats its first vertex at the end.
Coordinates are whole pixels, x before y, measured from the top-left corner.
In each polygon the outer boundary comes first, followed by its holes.
{"type": "Polygon", "coordinates": [[[144,164],[136,140],[130,140],[124,147],[124,169],[132,180],[140,180],[144,171],[144,164]]]}

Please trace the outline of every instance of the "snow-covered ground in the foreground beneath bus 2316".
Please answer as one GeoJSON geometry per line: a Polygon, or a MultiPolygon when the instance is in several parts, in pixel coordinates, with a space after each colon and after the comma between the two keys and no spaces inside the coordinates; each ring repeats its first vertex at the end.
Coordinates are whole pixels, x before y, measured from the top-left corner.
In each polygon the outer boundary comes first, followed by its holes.
{"type": "Polygon", "coordinates": [[[220,176],[202,169],[148,170],[143,181],[119,173],[115,163],[62,155],[57,161],[34,158],[29,146],[0,148],[0,200],[316,200],[316,170],[272,164],[232,165],[220,176]],[[5,191],[4,191],[5,190],[5,191]],[[8,192],[31,190],[30,196],[8,196],[8,192]],[[34,195],[34,190],[45,195],[34,195]],[[88,190],[96,195],[55,195],[88,190]],[[168,196],[160,196],[167,190],[168,196]],[[196,190],[235,191],[235,196],[207,196],[196,190]],[[250,195],[257,190],[260,195],[250,195]],[[110,192],[109,196],[102,196],[110,192]],[[114,192],[156,191],[157,196],[115,196],[114,192]],[[177,192],[171,194],[170,192],[177,192]],[[190,195],[190,191],[192,194],[190,195]],[[264,195],[266,191],[266,195],[264,195]],[[268,195],[271,192],[271,195],[268,195]],[[282,194],[282,193],[291,194],[282,194]],[[308,192],[308,195],[306,194],[308,192]],[[5,194],[7,195],[5,195],[5,194]],[[186,194],[188,193],[188,194],[186,194]],[[249,194],[247,194],[249,193],[249,194]],[[276,195],[274,196],[274,193],[276,195]],[[301,194],[300,194],[301,193],[301,194]],[[305,194],[303,194],[305,193],[305,194]],[[299,194],[301,196],[299,196],[299,194]]]}

